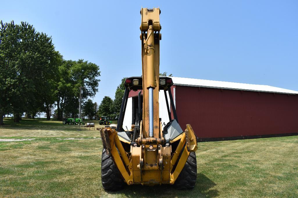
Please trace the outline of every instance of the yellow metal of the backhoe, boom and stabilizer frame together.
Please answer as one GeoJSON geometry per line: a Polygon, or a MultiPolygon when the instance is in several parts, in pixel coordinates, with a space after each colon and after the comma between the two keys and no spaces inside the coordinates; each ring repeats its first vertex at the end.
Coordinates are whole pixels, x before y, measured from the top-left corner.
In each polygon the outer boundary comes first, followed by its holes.
{"type": "MultiPolygon", "coordinates": [[[[111,156],[128,185],[174,184],[191,151],[197,150],[195,134],[190,125],[185,132],[164,144],[162,123],[159,121],[159,40],[161,25],[159,8],[141,9],[143,119],[137,146],[118,136],[116,131],[105,128],[111,146],[111,156]],[[153,88],[153,137],[149,138],[148,89],[153,88]],[[171,143],[180,141],[172,151],[171,143]],[[124,147],[122,143],[125,144],[124,147]],[[118,152],[118,150],[119,152],[118,152]],[[120,154],[119,154],[120,153],[120,154]],[[179,158],[179,156],[181,157],[179,158]],[[179,160],[178,160],[179,158],[179,160]],[[175,167],[175,169],[173,169],[175,167]]],[[[133,127],[132,127],[133,129],[133,127]]],[[[135,141],[135,140],[133,140],[135,141]]]]}

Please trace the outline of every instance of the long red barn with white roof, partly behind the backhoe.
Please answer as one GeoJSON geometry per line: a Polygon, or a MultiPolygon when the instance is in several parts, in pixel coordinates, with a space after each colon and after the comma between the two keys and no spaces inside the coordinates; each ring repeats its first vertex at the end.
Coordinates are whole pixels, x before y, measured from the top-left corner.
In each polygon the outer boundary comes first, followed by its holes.
{"type": "MultiPolygon", "coordinates": [[[[171,77],[178,122],[191,124],[199,141],[298,135],[298,92],[254,85],[171,77]]],[[[134,124],[137,92],[129,93],[123,126],[134,124]]],[[[167,96],[168,97],[168,96],[167,96]]],[[[160,117],[169,121],[163,92],[160,117]]],[[[172,116],[173,117],[173,116],[172,116]]]]}

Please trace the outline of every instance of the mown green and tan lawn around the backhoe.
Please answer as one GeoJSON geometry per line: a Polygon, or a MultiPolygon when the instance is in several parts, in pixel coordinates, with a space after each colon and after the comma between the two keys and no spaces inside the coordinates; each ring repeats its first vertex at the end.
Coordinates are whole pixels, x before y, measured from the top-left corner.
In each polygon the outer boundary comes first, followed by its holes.
{"type": "Polygon", "coordinates": [[[298,197],[298,136],[200,142],[193,190],[170,185],[126,186],[106,192],[100,181],[102,143],[97,131],[55,121],[5,120],[0,139],[0,197],[298,197]]]}

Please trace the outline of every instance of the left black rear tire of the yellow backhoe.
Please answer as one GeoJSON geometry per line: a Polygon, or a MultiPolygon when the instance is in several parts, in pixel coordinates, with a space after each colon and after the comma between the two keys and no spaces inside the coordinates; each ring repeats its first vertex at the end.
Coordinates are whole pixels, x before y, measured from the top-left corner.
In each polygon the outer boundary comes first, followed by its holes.
{"type": "Polygon", "coordinates": [[[112,157],[105,153],[105,149],[101,155],[101,183],[103,189],[108,191],[119,191],[125,185],[116,164],[112,157]]]}

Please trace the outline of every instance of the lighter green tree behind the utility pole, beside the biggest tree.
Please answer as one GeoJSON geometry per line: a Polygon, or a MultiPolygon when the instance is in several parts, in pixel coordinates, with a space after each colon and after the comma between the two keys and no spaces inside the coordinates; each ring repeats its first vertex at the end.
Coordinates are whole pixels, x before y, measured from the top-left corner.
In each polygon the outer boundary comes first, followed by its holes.
{"type": "Polygon", "coordinates": [[[79,59],[67,60],[59,67],[59,80],[57,83],[57,119],[65,116],[74,117],[78,113],[79,88],[83,87],[82,102],[94,97],[98,91],[100,76],[99,66],[79,59]]]}

